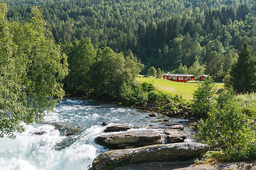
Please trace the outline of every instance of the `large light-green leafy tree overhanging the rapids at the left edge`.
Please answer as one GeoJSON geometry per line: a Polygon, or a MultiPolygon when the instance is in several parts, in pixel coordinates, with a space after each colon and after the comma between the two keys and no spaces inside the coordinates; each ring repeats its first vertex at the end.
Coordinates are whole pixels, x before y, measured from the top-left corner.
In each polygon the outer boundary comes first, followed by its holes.
{"type": "Polygon", "coordinates": [[[0,137],[14,137],[23,131],[21,122],[41,122],[64,96],[60,81],[68,63],[48,38],[38,8],[31,8],[31,20],[23,25],[8,23],[5,14],[0,3],[0,137]]]}

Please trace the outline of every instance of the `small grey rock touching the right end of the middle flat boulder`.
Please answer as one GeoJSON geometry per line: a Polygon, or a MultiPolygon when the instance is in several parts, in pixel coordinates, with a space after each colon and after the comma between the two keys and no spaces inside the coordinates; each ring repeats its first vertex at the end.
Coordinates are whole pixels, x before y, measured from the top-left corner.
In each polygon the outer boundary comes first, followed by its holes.
{"type": "Polygon", "coordinates": [[[183,134],[181,130],[164,130],[164,133],[167,135],[166,143],[184,142],[187,138],[187,135],[183,134]]]}

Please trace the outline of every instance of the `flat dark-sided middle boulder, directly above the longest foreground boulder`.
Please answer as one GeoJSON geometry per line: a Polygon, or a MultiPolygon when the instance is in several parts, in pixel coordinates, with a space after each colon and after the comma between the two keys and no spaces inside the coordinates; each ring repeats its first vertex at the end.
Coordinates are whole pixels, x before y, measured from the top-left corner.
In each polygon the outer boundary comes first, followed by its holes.
{"type": "Polygon", "coordinates": [[[161,135],[155,130],[134,130],[110,135],[101,135],[95,142],[110,149],[125,149],[160,144],[161,135]]]}

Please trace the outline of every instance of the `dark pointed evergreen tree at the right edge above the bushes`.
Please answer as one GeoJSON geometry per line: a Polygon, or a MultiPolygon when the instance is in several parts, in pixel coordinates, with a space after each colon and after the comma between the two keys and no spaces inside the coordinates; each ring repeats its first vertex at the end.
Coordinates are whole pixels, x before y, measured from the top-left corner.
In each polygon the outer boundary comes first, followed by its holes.
{"type": "Polygon", "coordinates": [[[230,85],[242,94],[256,90],[255,59],[250,55],[247,43],[243,45],[238,62],[230,71],[230,85]]]}

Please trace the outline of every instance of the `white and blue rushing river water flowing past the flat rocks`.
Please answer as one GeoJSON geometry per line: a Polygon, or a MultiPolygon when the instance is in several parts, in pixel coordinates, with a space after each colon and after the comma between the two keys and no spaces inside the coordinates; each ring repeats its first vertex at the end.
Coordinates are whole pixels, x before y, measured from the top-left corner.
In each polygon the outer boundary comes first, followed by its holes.
{"type": "Polygon", "coordinates": [[[139,127],[156,125],[153,123],[156,118],[145,118],[147,115],[134,108],[65,98],[53,113],[46,115],[46,124],[24,125],[26,131],[17,134],[16,139],[0,138],[0,170],[88,169],[93,159],[106,151],[94,142],[105,129],[102,122],[139,127]],[[67,137],[55,128],[54,123],[80,127],[81,130],[67,137]],[[36,135],[36,132],[42,134],[36,135]],[[66,142],[65,147],[56,147],[63,141],[71,142],[66,142]]]}

